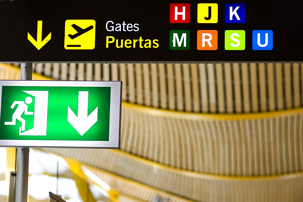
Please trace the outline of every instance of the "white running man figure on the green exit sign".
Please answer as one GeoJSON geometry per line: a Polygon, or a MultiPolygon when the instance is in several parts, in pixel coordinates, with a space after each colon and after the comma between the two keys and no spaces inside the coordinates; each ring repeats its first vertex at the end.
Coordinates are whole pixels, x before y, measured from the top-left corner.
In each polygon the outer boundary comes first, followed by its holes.
{"type": "Polygon", "coordinates": [[[19,120],[21,122],[21,131],[25,130],[25,119],[21,118],[23,112],[25,115],[33,115],[34,112],[29,112],[28,111],[28,105],[32,103],[33,99],[31,97],[27,97],[25,98],[25,102],[23,101],[14,101],[12,103],[11,108],[14,109],[14,107],[16,105],[18,105],[17,109],[15,110],[15,112],[13,113],[12,116],[12,121],[11,122],[4,122],[4,125],[16,125],[16,119],[19,120]],[[26,103],[26,104],[25,104],[26,103]]]}

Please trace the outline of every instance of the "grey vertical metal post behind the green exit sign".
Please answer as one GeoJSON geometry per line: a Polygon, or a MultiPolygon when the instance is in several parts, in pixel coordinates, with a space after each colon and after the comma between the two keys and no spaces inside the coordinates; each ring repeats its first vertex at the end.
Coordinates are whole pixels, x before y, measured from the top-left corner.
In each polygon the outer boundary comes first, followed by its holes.
{"type": "MultiPolygon", "coordinates": [[[[32,63],[21,64],[21,80],[32,80],[32,63]]],[[[16,202],[27,202],[29,148],[17,149],[16,202]]]]}

